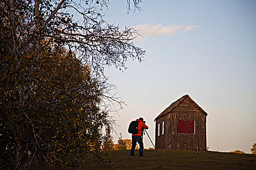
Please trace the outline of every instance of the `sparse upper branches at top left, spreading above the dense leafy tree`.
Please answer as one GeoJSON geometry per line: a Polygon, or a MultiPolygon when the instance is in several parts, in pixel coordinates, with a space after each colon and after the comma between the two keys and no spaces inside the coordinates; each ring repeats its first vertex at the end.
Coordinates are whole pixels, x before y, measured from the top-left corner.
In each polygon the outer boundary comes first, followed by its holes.
{"type": "MultiPolygon", "coordinates": [[[[137,0],[134,2],[137,6],[137,0]]],[[[34,51],[35,67],[41,52],[56,42],[76,50],[77,57],[95,74],[103,74],[104,66],[126,68],[129,57],[140,62],[145,51],[132,43],[136,30],[126,27],[119,31],[118,26],[106,23],[99,10],[107,5],[107,0],[2,1],[1,33],[7,34],[1,37],[9,45],[5,50],[18,60],[34,51]],[[75,14],[79,16],[74,17],[75,14]]]]}

